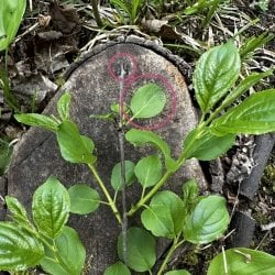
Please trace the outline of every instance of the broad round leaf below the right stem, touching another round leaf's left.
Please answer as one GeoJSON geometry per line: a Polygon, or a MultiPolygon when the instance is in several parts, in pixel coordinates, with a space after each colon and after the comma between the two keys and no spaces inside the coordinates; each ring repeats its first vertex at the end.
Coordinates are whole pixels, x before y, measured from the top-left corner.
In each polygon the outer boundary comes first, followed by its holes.
{"type": "Polygon", "coordinates": [[[155,237],[174,239],[183,228],[185,218],[183,200],[172,191],[160,191],[143,210],[143,226],[155,237]]]}

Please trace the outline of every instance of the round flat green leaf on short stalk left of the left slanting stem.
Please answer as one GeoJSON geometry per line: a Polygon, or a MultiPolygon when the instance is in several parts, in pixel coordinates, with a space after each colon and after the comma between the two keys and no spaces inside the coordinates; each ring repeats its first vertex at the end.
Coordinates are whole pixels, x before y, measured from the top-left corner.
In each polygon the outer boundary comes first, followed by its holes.
{"type": "Polygon", "coordinates": [[[97,190],[87,185],[74,185],[69,187],[70,212],[86,215],[98,209],[100,197],[97,190]]]}

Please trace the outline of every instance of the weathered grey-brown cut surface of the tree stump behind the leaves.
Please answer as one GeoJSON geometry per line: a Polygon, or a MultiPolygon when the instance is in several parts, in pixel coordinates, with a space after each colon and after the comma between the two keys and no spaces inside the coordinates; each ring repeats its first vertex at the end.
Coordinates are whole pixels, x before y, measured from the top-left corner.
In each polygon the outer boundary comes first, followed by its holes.
{"type": "MultiPolygon", "coordinates": [[[[183,76],[183,73],[186,73],[184,62],[163,48],[151,42],[130,37],[96,47],[91,53],[85,55],[67,72],[65,85],[51,100],[44,113],[56,113],[56,102],[61,95],[65,90],[70,92],[72,119],[78,123],[81,133],[88,134],[94,140],[98,158],[97,168],[110,189],[111,169],[116,163],[120,162],[118,131],[112,123],[91,119],[89,116],[108,113],[110,105],[119,102],[117,63],[120,62],[120,58],[125,58],[131,79],[139,81],[142,78],[141,81],[152,81],[151,78],[154,75],[156,78],[153,78],[153,81],[165,79],[168,87],[172,87],[175,95],[173,96],[172,91],[167,95],[169,100],[176,99],[175,112],[165,123],[162,123],[165,116],[158,118],[160,121],[152,123],[158,125],[155,131],[167,141],[175,157],[182,151],[184,136],[197,123],[196,111],[183,76]]],[[[134,86],[134,81],[132,85],[134,86]]],[[[168,105],[167,113],[170,112],[170,108],[173,106],[168,105]]],[[[146,121],[146,123],[150,124],[151,121],[146,121]]],[[[125,160],[138,162],[141,154],[152,152],[152,148],[150,146],[134,148],[127,144],[124,151],[125,160]]],[[[30,209],[35,188],[51,175],[56,176],[67,187],[77,183],[86,183],[96,188],[105,199],[86,166],[72,165],[63,161],[55,136],[51,132],[31,128],[14,150],[8,175],[8,193],[15,196],[30,209]]],[[[206,189],[206,179],[196,161],[188,162],[184,168],[168,179],[167,186],[169,189],[180,191],[182,185],[189,178],[197,178],[200,188],[206,189]]],[[[129,206],[136,201],[139,193],[138,185],[127,190],[129,206]]],[[[139,218],[130,220],[130,224],[136,222],[140,222],[139,218]]],[[[101,205],[95,213],[87,216],[72,215],[69,226],[78,231],[87,249],[87,261],[91,265],[89,274],[103,274],[106,267],[118,260],[117,238],[121,232],[109,207],[101,205]]],[[[165,250],[165,245],[167,249],[168,243],[162,242],[158,245],[160,256],[165,250]]]]}

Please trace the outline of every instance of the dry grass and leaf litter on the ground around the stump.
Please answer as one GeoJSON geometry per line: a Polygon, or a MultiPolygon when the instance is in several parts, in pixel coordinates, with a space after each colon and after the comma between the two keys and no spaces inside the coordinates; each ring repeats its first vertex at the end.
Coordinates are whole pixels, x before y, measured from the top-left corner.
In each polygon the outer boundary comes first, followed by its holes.
{"type": "MultiPolygon", "coordinates": [[[[249,41],[252,37],[261,36],[255,50],[243,58],[242,76],[274,68],[274,0],[216,1],[216,7],[211,4],[199,8],[188,7],[186,2],[196,1],[144,1],[136,12],[131,8],[128,12],[116,8],[109,1],[100,1],[101,22],[95,18],[88,0],[28,2],[24,19],[7,57],[11,86],[9,100],[0,89],[0,175],[7,173],[12,146],[26,130],[14,120],[13,113],[42,112],[56,89],[64,84],[63,74],[69,65],[96,45],[121,35],[133,34],[155,41],[180,56],[191,69],[199,56],[211,46],[231,38],[238,48],[245,50],[251,45],[249,41]]],[[[4,53],[0,53],[0,69],[3,68],[4,53]]],[[[191,73],[186,78],[191,90],[191,73]]],[[[253,89],[257,91],[274,88],[274,85],[275,77],[271,76],[253,89]]],[[[238,145],[233,150],[238,150],[238,145]]],[[[234,152],[231,151],[222,162],[233,155],[234,152]]],[[[226,173],[230,170],[230,164],[232,160],[224,164],[226,173]]],[[[246,200],[251,216],[256,222],[251,248],[271,254],[275,254],[274,193],[273,150],[258,193],[253,201],[246,200]]],[[[223,195],[228,199],[229,208],[238,209],[235,201],[242,200],[239,198],[238,184],[226,184],[223,195]]],[[[205,268],[212,253],[216,253],[215,250],[213,245],[209,253],[200,253],[195,258],[194,254],[189,257],[187,255],[177,265],[187,267],[194,274],[201,274],[201,268],[205,268]]]]}

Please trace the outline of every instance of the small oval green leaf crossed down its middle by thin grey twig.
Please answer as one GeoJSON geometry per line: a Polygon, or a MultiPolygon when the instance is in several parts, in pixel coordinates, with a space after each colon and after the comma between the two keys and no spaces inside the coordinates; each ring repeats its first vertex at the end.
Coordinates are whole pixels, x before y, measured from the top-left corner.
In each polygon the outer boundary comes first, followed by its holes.
{"type": "MultiPolygon", "coordinates": [[[[131,161],[124,161],[124,165],[125,165],[125,185],[129,186],[135,179],[134,163],[132,163],[131,161]]],[[[122,189],[121,163],[117,163],[112,168],[111,185],[116,191],[122,189]]]]}

